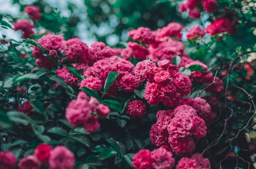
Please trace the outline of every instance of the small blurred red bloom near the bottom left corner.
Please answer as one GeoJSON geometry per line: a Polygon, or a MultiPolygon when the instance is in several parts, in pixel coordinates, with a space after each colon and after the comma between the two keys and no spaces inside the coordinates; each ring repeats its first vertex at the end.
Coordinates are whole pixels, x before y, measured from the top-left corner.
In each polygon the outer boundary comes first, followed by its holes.
{"type": "Polygon", "coordinates": [[[46,143],[39,144],[35,148],[34,155],[40,162],[46,162],[51,155],[51,146],[46,143]]]}

